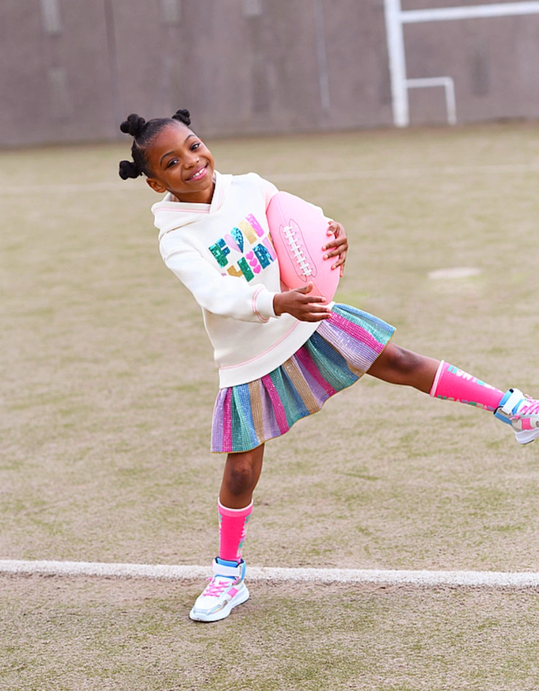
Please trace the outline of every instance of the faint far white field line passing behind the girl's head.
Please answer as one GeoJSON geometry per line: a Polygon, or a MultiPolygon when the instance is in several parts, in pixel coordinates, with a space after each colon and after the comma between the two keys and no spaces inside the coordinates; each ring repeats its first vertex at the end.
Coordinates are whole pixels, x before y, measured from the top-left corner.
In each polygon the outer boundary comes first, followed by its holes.
{"type": "MultiPolygon", "coordinates": [[[[265,177],[272,182],[310,182],[316,180],[393,180],[455,175],[510,175],[539,173],[537,163],[493,164],[484,166],[440,166],[432,168],[393,168],[352,171],[319,171],[314,173],[274,173],[265,177]]],[[[0,196],[18,194],[64,194],[76,192],[140,192],[140,186],[129,182],[66,182],[62,184],[0,185],[0,196]]]]}

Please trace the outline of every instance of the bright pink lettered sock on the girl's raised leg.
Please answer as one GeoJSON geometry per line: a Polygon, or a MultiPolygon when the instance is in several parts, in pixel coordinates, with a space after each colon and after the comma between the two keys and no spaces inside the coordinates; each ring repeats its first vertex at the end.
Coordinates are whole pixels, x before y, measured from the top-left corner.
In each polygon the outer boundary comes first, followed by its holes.
{"type": "Polygon", "coordinates": [[[431,396],[434,398],[458,401],[485,410],[498,408],[503,395],[503,392],[494,386],[475,379],[464,370],[443,360],[439,363],[431,388],[431,396]]]}

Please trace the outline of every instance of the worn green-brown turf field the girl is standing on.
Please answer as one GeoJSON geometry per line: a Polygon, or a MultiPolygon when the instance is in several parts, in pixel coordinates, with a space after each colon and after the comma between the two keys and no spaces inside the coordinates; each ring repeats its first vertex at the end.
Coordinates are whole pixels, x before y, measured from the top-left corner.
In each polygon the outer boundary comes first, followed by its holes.
{"type": "MultiPolygon", "coordinates": [[[[340,220],[337,299],[395,341],[539,395],[539,126],[209,142],[340,220]],[[471,278],[430,278],[471,267],[471,278]]],[[[164,267],[123,146],[0,152],[0,559],[207,564],[223,457],[200,310],[164,267]]],[[[539,446],[365,377],[267,444],[252,565],[539,571],[539,446]]],[[[537,687],[530,591],[0,578],[0,688],[537,687]],[[231,684],[231,680],[234,681],[231,684]]]]}

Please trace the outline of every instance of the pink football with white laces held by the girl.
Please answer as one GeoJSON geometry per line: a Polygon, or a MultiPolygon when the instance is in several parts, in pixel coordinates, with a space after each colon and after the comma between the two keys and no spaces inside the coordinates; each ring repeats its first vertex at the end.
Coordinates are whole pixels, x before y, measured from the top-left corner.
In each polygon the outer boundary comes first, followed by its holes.
{"type": "Polygon", "coordinates": [[[267,222],[287,288],[301,288],[312,281],[313,295],[333,299],[339,285],[336,257],[324,259],[323,245],[328,236],[328,220],[319,207],[288,192],[278,192],[267,207],[267,222]]]}

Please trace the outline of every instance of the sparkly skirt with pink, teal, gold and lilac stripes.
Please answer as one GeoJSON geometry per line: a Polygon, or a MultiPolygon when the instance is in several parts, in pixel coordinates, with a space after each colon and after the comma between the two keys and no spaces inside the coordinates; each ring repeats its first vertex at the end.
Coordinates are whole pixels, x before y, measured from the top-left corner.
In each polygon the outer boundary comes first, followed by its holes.
{"type": "Polygon", "coordinates": [[[310,339],[269,374],[219,390],[211,451],[249,451],[285,434],[301,417],[352,386],[377,359],[395,328],[368,312],[334,305],[310,339]]]}

